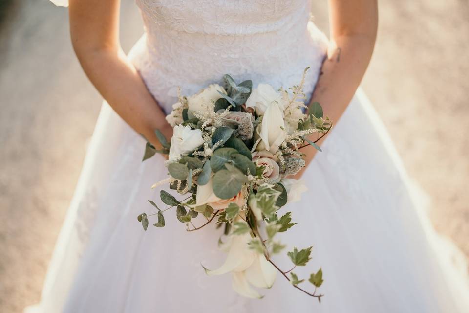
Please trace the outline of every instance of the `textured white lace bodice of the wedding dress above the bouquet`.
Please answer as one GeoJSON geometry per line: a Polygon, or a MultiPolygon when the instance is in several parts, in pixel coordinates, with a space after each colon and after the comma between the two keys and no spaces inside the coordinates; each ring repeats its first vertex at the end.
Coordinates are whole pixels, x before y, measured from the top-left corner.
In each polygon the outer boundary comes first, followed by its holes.
{"type": "Polygon", "coordinates": [[[130,52],[147,87],[165,108],[177,88],[192,94],[224,74],[305,93],[320,72],[327,39],[309,22],[309,0],[136,0],[146,34],[130,52]]]}

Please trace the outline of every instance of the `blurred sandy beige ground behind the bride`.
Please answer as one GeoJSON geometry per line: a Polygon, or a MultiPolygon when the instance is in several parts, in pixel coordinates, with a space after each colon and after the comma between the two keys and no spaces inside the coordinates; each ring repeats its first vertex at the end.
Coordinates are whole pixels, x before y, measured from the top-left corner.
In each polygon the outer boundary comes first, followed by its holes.
{"type": "MultiPolygon", "coordinates": [[[[315,1],[319,2],[319,1],[315,1]]],[[[326,1],[313,4],[327,29],[326,1]]],[[[380,1],[363,88],[439,232],[469,255],[469,2],[380,1]]],[[[40,297],[101,105],[73,54],[66,9],[0,1],[0,312],[40,297]]],[[[123,0],[122,45],[142,34],[123,0]]]]}

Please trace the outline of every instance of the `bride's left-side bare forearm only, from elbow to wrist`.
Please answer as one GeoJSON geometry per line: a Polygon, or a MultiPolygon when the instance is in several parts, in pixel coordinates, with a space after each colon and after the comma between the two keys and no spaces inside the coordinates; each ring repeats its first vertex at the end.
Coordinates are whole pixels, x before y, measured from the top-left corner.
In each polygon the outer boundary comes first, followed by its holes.
{"type": "Polygon", "coordinates": [[[114,111],[160,149],[154,130],[170,138],[172,128],[124,52],[101,49],[77,51],[77,55],[89,80],[114,111]]]}

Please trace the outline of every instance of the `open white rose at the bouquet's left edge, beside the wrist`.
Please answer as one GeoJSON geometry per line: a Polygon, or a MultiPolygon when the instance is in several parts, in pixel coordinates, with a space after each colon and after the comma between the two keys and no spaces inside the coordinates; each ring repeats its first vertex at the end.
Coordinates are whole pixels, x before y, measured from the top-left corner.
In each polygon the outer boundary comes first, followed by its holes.
{"type": "Polygon", "coordinates": [[[181,155],[187,155],[204,143],[202,131],[191,129],[190,126],[174,126],[174,134],[171,138],[169,159],[177,160],[181,155]]]}

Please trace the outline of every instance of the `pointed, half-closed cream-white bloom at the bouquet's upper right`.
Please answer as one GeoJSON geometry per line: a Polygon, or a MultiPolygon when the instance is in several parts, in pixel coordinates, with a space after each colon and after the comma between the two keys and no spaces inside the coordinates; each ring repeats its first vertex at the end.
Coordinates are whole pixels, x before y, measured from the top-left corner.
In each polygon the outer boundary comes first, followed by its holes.
{"type": "Polygon", "coordinates": [[[276,153],[285,141],[286,135],[283,111],[276,103],[271,103],[264,112],[262,122],[256,128],[258,139],[255,149],[256,151],[267,150],[276,153]]]}

